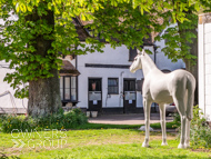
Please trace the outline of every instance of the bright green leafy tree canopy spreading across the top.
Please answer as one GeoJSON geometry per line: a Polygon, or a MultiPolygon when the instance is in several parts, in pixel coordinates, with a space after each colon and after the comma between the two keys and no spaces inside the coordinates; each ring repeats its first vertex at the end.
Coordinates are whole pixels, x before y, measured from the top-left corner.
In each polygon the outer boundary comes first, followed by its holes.
{"type": "MultiPolygon", "coordinates": [[[[128,48],[140,48],[143,38],[149,38],[152,31],[163,30],[170,17],[173,22],[192,27],[187,12],[190,8],[198,11],[201,4],[201,0],[1,0],[0,19],[4,23],[0,26],[0,59],[10,61],[10,69],[16,70],[8,73],[4,80],[17,90],[17,97],[27,97],[27,89],[19,86],[52,77],[51,70],[59,70],[61,66],[59,52],[102,52],[105,42],[113,48],[122,43],[128,48]],[[12,19],[12,16],[18,18],[12,19]],[[76,17],[88,21],[86,28],[93,31],[86,42],[80,41],[72,22],[76,17]],[[159,18],[164,19],[162,24],[158,22],[159,18]],[[97,39],[99,33],[105,42],[97,39]],[[44,49],[47,41],[51,44],[47,50],[40,50],[44,49]]],[[[177,50],[183,47],[185,40],[195,38],[193,34],[185,33],[188,39],[184,40],[178,36],[177,29],[169,29],[169,33],[172,40],[167,44],[173,49],[165,48],[163,51],[173,52],[170,58],[195,58],[177,50]]],[[[165,34],[162,38],[170,37],[165,34]]],[[[188,49],[184,46],[182,50],[188,49]]]]}

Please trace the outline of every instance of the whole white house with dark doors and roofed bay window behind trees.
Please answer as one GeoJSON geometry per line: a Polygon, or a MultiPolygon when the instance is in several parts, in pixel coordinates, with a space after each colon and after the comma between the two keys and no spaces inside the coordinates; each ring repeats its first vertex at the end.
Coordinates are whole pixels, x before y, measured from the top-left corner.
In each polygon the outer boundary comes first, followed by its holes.
{"type": "MultiPolygon", "coordinates": [[[[73,22],[79,38],[83,41],[89,36],[89,31],[83,29],[78,19],[73,19],[73,22]]],[[[161,33],[164,33],[164,30],[161,33]]],[[[164,40],[158,42],[147,39],[144,41],[144,49],[152,52],[150,57],[160,70],[170,72],[184,68],[182,60],[172,63],[161,52],[163,47],[164,40]],[[160,48],[157,49],[158,46],[160,48]]],[[[81,109],[99,111],[100,113],[143,112],[141,86],[144,78],[142,71],[139,70],[135,73],[129,71],[129,67],[135,56],[135,49],[127,49],[125,46],[112,49],[110,43],[105,43],[103,53],[67,56],[60,70],[62,105],[78,106],[81,109]]],[[[0,90],[0,93],[3,93],[9,89],[9,85],[3,82],[3,77],[12,70],[0,69],[1,73],[4,72],[1,74],[2,79],[0,80],[1,88],[4,88],[0,90]]],[[[11,95],[13,96],[13,90],[11,90],[11,95]]],[[[9,103],[9,99],[4,100],[4,102],[7,105],[0,105],[0,107],[6,108],[8,105],[11,105],[9,103]]],[[[23,107],[21,100],[14,98],[14,102],[23,107]]],[[[27,107],[27,103],[24,103],[24,107],[27,107]]],[[[152,111],[157,111],[154,108],[155,105],[153,105],[152,111]]]]}

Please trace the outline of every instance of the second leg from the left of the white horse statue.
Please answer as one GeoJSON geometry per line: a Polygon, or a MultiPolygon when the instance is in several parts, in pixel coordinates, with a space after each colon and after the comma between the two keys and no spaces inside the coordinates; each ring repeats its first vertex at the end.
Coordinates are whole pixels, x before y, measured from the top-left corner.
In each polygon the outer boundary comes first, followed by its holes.
{"type": "Polygon", "coordinates": [[[167,128],[165,128],[165,106],[159,105],[160,108],[160,123],[162,129],[162,146],[167,146],[167,128]]]}

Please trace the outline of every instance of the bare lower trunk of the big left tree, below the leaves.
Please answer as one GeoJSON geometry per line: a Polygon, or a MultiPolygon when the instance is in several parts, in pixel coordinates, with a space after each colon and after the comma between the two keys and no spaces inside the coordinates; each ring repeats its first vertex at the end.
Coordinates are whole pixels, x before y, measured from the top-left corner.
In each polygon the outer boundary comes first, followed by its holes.
{"type": "Polygon", "coordinates": [[[58,70],[52,78],[40,78],[29,82],[28,115],[32,117],[52,115],[61,107],[58,70]]]}

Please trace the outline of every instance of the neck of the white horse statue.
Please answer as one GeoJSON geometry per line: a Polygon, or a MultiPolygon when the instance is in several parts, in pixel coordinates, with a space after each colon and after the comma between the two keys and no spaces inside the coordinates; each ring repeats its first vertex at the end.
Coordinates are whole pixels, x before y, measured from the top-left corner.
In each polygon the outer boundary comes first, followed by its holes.
{"type": "Polygon", "coordinates": [[[143,76],[145,77],[151,70],[159,71],[152,59],[145,53],[141,58],[143,76]]]}

